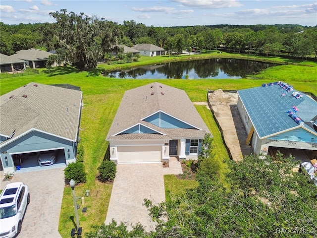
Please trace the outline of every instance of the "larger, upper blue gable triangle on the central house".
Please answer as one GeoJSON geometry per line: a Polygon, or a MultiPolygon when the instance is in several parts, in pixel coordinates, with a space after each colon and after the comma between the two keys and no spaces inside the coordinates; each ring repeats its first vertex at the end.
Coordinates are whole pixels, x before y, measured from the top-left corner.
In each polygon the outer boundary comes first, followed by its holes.
{"type": "Polygon", "coordinates": [[[156,113],[144,120],[161,128],[194,128],[193,126],[162,112],[156,113]]]}

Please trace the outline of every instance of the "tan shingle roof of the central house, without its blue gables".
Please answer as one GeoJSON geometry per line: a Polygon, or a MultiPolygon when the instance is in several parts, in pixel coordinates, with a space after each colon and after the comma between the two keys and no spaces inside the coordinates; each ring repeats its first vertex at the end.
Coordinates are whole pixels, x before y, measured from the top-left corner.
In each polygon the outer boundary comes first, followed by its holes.
{"type": "Polygon", "coordinates": [[[125,129],[141,123],[167,136],[204,136],[210,133],[204,120],[184,90],[173,88],[158,82],[147,84],[124,93],[119,109],[109,129],[109,139],[146,139],[166,138],[159,134],[124,134],[115,135],[125,129]],[[142,119],[157,112],[163,112],[182,120],[199,129],[169,129],[160,128],[142,119]]]}

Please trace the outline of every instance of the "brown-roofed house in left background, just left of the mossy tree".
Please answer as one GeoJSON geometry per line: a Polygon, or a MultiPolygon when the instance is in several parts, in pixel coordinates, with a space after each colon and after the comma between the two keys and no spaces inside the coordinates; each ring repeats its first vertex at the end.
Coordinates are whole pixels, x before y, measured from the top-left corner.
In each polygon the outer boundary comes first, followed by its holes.
{"type": "MultiPolygon", "coordinates": [[[[30,68],[44,68],[49,56],[54,55],[53,53],[42,51],[40,49],[29,49],[20,50],[16,54],[12,55],[15,58],[25,60],[26,65],[30,68]]],[[[58,66],[55,62],[52,66],[58,66]]]]}

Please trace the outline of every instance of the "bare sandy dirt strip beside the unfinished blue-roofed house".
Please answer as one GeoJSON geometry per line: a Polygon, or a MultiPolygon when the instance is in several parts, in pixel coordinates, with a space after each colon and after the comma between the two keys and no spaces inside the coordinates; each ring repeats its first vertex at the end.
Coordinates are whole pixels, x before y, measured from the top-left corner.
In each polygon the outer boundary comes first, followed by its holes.
{"type": "Polygon", "coordinates": [[[237,110],[238,93],[218,89],[209,93],[208,98],[232,159],[239,161],[250,155],[252,149],[245,143],[247,132],[237,110]]]}

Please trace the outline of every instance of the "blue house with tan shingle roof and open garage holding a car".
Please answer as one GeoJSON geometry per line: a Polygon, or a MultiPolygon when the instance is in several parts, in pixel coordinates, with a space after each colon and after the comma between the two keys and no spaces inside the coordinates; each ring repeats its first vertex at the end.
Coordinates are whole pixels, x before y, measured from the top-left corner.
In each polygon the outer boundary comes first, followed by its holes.
{"type": "Polygon", "coordinates": [[[33,82],[0,96],[1,169],[14,172],[21,158],[36,169],[29,155],[52,150],[56,163],[76,161],[81,106],[81,91],[33,82]]]}

